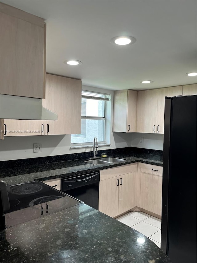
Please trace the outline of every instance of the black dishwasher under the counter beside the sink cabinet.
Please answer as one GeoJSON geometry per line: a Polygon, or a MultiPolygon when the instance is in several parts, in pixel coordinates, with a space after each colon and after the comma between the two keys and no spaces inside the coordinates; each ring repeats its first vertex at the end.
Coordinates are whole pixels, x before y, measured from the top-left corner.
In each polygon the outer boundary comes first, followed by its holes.
{"type": "Polygon", "coordinates": [[[61,191],[98,210],[100,172],[61,179],[61,191]]]}

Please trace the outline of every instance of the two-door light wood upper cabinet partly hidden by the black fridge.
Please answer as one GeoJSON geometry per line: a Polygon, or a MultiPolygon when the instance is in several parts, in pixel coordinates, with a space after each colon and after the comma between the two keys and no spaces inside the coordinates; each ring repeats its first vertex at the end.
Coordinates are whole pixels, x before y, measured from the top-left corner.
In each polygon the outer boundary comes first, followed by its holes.
{"type": "Polygon", "coordinates": [[[165,97],[182,95],[182,89],[176,86],[139,91],[137,132],[163,134],[165,97]]]}

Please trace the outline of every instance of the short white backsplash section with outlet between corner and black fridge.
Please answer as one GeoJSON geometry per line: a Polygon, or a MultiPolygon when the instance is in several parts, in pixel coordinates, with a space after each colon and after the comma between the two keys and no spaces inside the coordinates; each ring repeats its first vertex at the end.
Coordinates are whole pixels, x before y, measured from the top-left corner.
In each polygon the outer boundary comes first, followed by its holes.
{"type": "Polygon", "coordinates": [[[163,134],[132,133],[131,146],[145,149],[163,150],[163,134]],[[143,137],[143,143],[140,142],[143,137]]]}

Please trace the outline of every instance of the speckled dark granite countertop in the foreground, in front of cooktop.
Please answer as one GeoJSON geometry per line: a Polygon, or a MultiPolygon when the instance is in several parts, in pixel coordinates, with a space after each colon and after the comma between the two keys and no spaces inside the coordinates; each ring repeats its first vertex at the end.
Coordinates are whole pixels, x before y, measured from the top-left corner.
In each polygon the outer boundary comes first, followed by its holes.
{"type": "Polygon", "coordinates": [[[170,263],[146,236],[80,204],[0,232],[2,263],[170,263]]]}

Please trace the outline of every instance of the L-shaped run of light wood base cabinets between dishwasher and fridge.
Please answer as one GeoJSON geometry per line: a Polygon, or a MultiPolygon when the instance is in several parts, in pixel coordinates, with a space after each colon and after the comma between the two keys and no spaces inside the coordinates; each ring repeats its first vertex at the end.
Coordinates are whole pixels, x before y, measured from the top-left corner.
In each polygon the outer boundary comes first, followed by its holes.
{"type": "Polygon", "coordinates": [[[116,217],[138,207],[161,216],[163,167],[124,166],[100,171],[98,210],[116,217]]]}

